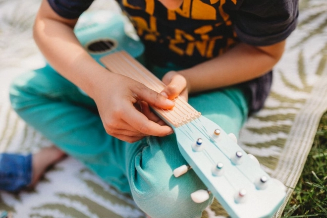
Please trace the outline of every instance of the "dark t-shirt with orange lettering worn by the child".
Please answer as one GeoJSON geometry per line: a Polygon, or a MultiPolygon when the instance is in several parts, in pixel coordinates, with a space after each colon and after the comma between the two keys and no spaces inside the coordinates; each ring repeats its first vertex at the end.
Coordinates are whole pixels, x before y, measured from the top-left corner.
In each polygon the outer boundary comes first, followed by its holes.
{"type": "MultiPolygon", "coordinates": [[[[77,18],[93,0],[48,0],[60,16],[77,18]]],[[[176,10],[158,0],[117,0],[153,63],[191,67],[223,54],[237,42],[268,46],[295,29],[298,0],[184,0],[176,10]]],[[[242,83],[251,96],[250,111],[262,108],[272,72],[242,83]]]]}

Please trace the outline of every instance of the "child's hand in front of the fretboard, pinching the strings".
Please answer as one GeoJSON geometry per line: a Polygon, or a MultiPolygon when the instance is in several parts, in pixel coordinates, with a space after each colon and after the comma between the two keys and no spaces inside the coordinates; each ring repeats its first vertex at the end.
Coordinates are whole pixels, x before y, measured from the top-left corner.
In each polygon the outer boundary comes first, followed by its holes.
{"type": "Polygon", "coordinates": [[[145,103],[170,109],[174,103],[163,95],[126,76],[108,73],[93,91],[100,117],[109,135],[127,142],[145,136],[166,136],[172,129],[147,108],[145,103]],[[114,81],[114,82],[113,82],[114,81]],[[144,112],[139,110],[139,104],[144,112]]]}

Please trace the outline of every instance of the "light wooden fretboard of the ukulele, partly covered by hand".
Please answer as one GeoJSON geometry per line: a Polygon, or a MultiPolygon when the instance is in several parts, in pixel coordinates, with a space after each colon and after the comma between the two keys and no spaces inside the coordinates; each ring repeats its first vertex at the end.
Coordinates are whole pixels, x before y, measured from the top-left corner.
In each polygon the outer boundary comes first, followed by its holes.
{"type": "MultiPolygon", "coordinates": [[[[165,84],[160,79],[124,51],[108,54],[102,57],[100,61],[111,72],[128,76],[158,93],[165,87],[165,84]]],[[[152,108],[161,115],[166,122],[169,122],[176,128],[201,116],[200,112],[195,110],[182,98],[177,97],[174,99],[174,102],[175,107],[172,109],[152,108]]]]}

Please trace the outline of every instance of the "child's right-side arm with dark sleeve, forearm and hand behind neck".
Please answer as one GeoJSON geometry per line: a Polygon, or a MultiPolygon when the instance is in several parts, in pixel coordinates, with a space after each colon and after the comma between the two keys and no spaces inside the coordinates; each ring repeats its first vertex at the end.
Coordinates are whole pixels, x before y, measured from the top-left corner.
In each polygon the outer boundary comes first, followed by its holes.
{"type": "MultiPolygon", "coordinates": [[[[200,92],[245,82],[270,71],[281,57],[285,39],[295,29],[298,17],[298,0],[244,0],[231,15],[239,40],[225,54],[163,77],[165,84],[177,84],[184,77],[180,92],[200,92]],[[178,76],[178,79],[176,78],[178,76]],[[171,83],[172,81],[172,83],[171,83]]],[[[236,4],[236,1],[235,1],[236,4]]],[[[169,85],[163,92],[169,98],[177,92],[169,85]]]]}

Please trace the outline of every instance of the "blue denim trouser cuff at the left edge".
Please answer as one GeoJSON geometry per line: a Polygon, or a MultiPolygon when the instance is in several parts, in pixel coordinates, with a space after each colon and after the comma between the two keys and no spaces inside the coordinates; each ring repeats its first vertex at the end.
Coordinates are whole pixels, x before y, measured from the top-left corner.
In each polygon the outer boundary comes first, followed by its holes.
{"type": "Polygon", "coordinates": [[[32,181],[32,155],[0,154],[0,190],[16,192],[32,181]]]}

